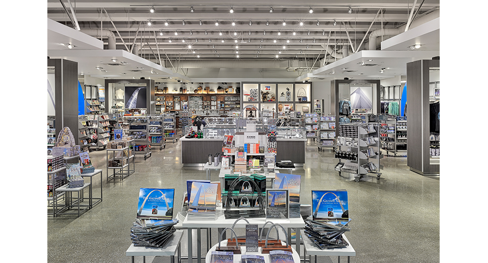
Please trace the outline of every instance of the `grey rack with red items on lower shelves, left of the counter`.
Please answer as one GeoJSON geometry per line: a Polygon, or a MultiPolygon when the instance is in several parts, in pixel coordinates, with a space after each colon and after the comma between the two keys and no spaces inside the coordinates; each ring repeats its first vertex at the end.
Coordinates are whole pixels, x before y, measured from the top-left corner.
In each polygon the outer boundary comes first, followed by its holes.
{"type": "MultiPolygon", "coordinates": [[[[144,160],[151,157],[148,143],[148,117],[130,116],[129,135],[134,136],[134,153],[144,155],[144,160]]],[[[135,158],[135,157],[134,157],[135,158]]]]}

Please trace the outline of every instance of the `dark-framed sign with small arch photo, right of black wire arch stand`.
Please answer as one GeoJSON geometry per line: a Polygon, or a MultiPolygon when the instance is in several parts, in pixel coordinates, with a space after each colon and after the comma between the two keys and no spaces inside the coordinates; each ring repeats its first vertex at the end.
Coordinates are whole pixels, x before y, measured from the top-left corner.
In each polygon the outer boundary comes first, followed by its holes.
{"type": "Polygon", "coordinates": [[[266,189],[266,218],[287,219],[288,213],[288,189],[266,189]]]}

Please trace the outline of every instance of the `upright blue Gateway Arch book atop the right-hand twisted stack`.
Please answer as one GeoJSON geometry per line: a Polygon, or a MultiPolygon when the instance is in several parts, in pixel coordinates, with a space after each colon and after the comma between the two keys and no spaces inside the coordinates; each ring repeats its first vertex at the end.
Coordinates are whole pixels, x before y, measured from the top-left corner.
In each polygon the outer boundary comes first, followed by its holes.
{"type": "Polygon", "coordinates": [[[312,190],[312,219],[348,221],[347,191],[312,190]]]}

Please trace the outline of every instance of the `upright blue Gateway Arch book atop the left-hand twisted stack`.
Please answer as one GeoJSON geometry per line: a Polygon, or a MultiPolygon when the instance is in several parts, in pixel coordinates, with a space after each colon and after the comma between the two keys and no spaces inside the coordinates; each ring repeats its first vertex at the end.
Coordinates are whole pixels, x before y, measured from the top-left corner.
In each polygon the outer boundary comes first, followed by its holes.
{"type": "Polygon", "coordinates": [[[175,189],[139,189],[138,219],[173,219],[175,189]]]}

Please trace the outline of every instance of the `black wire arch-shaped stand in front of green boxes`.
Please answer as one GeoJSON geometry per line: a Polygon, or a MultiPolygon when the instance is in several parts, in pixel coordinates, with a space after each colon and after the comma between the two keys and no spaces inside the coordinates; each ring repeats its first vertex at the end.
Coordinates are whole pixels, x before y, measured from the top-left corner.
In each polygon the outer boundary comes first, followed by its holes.
{"type": "Polygon", "coordinates": [[[257,201],[259,203],[259,208],[258,209],[235,209],[231,210],[230,206],[230,200],[232,199],[232,193],[234,192],[234,188],[239,184],[241,181],[247,181],[247,182],[252,182],[254,184],[253,188],[253,194],[254,194],[254,189],[261,189],[258,184],[251,179],[251,177],[247,175],[241,175],[232,181],[231,185],[229,186],[229,190],[227,191],[227,199],[225,200],[225,219],[239,219],[239,218],[264,218],[266,214],[264,213],[264,199],[263,199],[263,193],[260,191],[258,192],[258,198],[257,201]],[[246,213],[243,215],[242,211],[246,211],[246,213]]]}

